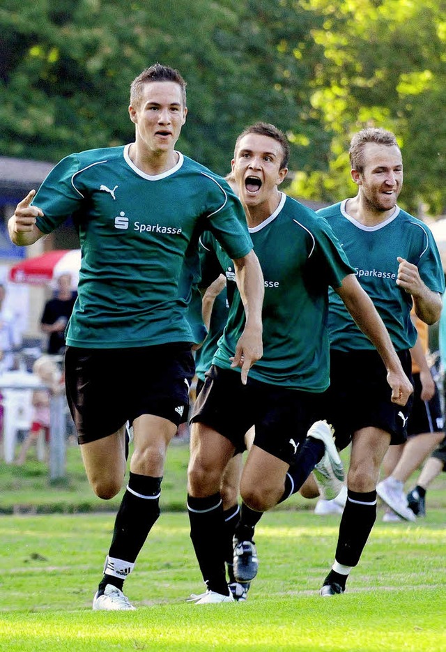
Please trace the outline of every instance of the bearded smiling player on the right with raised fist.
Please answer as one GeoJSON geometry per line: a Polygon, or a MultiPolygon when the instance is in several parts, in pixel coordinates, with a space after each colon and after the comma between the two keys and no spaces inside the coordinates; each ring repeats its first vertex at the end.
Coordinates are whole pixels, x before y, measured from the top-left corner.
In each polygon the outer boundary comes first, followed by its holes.
{"type": "MultiPolygon", "coordinates": [[[[367,128],[350,145],[357,195],[320,209],[373,301],[401,365],[410,376],[417,333],[410,310],[426,324],[438,321],[444,274],[428,227],[397,205],[403,160],[392,132],[367,128]]],[[[344,593],[376,520],[376,483],[390,443],[406,440],[410,403],[392,401],[386,371],[369,340],[330,292],[330,389],[328,419],[339,449],[351,442],[348,495],[332,570],[321,596],[344,593]]]]}

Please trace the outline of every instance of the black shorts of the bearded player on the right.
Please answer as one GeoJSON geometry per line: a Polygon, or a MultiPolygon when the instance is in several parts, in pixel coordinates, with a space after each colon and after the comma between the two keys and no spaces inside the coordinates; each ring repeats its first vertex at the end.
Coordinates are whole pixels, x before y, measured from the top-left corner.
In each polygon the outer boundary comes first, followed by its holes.
{"type": "MultiPolygon", "coordinates": [[[[403,370],[412,377],[409,351],[399,351],[403,370]]],[[[336,446],[348,446],[353,433],[372,426],[391,435],[390,443],[404,443],[412,395],[404,407],[392,403],[387,370],[378,351],[330,351],[330,388],[327,418],[334,427],[336,446]]]]}

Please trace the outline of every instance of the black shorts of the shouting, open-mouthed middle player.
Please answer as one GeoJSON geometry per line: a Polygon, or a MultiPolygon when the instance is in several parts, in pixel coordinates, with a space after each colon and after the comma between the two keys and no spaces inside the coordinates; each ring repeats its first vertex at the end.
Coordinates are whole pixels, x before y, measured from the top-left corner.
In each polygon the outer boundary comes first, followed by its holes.
{"type": "MultiPolygon", "coordinates": [[[[192,411],[191,423],[206,423],[240,450],[245,433],[255,426],[254,444],[287,464],[309,427],[326,418],[325,393],[286,389],[213,365],[192,411]]],[[[243,449],[242,449],[243,450],[243,449]]]]}

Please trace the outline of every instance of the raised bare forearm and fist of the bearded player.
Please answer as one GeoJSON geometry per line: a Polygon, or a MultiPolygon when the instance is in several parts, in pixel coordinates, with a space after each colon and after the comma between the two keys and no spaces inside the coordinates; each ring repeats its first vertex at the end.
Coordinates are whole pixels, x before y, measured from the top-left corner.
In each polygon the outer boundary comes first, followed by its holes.
{"type": "Polygon", "coordinates": [[[415,314],[426,324],[435,324],[440,319],[441,295],[433,292],[424,283],[416,265],[398,257],[397,285],[412,295],[415,314]]]}

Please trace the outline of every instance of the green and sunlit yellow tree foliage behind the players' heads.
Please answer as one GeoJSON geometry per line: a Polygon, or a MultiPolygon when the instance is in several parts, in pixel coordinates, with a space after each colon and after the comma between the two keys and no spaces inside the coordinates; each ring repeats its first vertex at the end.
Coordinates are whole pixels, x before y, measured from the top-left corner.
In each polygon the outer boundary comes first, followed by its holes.
{"type": "Polygon", "coordinates": [[[216,172],[263,119],[289,135],[288,191],[337,201],[351,133],[373,124],[399,137],[401,204],[444,210],[443,0],[3,0],[0,35],[5,155],[130,142],[130,82],[160,61],[188,82],[180,149],[216,172]]]}

